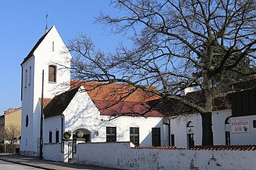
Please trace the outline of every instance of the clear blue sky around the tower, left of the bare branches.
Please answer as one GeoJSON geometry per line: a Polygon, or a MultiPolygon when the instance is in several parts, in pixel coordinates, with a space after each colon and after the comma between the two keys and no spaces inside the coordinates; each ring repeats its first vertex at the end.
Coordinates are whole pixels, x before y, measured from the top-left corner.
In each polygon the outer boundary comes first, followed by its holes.
{"type": "Polygon", "coordinates": [[[123,39],[111,36],[104,26],[93,23],[100,11],[114,14],[107,0],[5,0],[0,1],[0,115],[21,106],[20,63],[48,28],[55,25],[67,44],[79,33],[86,33],[97,48],[111,51],[123,39]]]}

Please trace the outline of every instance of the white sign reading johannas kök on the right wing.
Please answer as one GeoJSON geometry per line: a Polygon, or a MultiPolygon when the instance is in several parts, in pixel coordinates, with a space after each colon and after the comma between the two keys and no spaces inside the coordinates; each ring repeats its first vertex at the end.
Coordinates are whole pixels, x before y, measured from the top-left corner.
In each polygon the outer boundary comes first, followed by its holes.
{"type": "Polygon", "coordinates": [[[232,120],[230,123],[232,133],[248,133],[250,131],[248,119],[232,120]]]}

